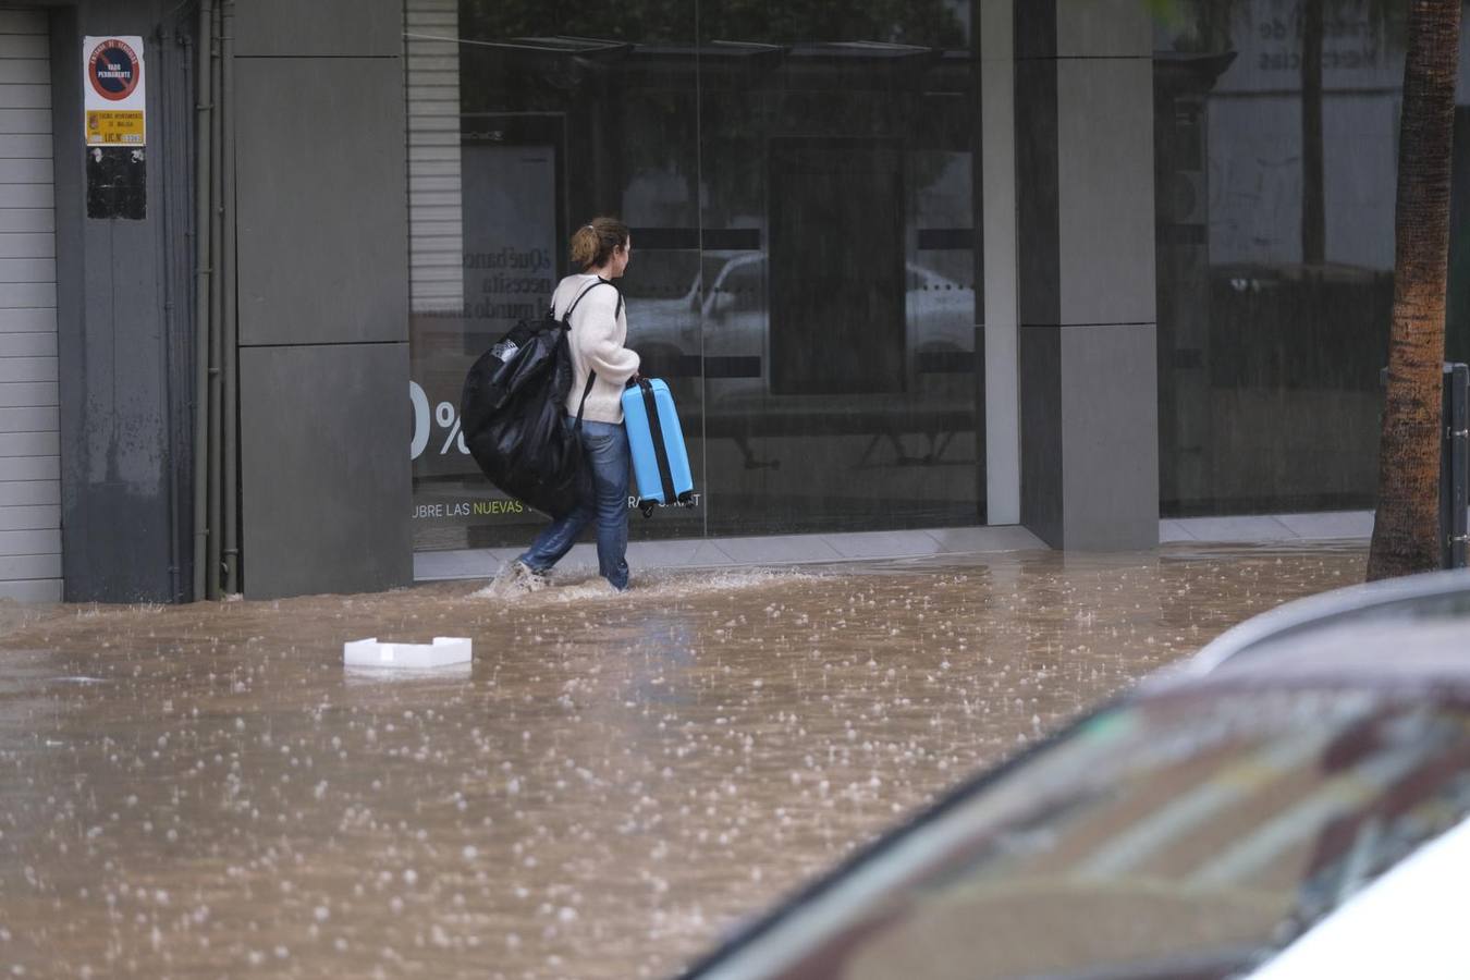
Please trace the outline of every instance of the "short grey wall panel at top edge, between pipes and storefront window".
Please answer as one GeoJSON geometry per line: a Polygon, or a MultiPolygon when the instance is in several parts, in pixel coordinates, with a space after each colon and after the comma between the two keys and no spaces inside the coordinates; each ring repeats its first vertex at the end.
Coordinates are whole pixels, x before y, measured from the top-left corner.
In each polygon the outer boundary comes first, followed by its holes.
{"type": "Polygon", "coordinates": [[[250,0],[235,4],[235,53],[376,54],[403,51],[403,0],[250,0]]]}

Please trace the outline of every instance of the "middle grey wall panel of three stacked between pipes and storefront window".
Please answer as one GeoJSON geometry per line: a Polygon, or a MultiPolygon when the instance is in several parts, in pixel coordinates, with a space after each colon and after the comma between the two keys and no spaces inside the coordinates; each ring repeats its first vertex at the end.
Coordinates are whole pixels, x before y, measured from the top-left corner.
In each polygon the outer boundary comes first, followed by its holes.
{"type": "Polygon", "coordinates": [[[407,341],[398,59],[241,59],[240,342],[407,341]]]}

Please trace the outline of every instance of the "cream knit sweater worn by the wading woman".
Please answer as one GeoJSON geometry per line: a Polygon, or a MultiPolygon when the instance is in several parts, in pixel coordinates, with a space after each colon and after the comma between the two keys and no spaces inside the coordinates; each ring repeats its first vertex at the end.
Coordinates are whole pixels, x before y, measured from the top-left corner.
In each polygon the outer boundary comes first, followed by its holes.
{"type": "Polygon", "coordinates": [[[623,385],[638,373],[638,354],[623,347],[628,339],[628,307],[619,310],[617,289],[594,287],[597,276],[572,275],[563,279],[551,294],[551,309],[557,319],[566,313],[572,301],[591,289],[572,310],[572,391],[566,398],[566,411],[576,416],[587,388],[588,372],[597,372],[592,392],[587,397],[584,420],[622,425],[623,385]]]}

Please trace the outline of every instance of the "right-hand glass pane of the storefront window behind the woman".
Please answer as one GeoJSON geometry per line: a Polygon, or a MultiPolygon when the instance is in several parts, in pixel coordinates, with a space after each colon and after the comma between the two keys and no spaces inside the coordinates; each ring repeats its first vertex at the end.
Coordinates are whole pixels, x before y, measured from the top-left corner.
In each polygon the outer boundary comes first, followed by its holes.
{"type": "Polygon", "coordinates": [[[970,10],[848,6],[701,4],[711,532],[982,517],[970,10]]]}

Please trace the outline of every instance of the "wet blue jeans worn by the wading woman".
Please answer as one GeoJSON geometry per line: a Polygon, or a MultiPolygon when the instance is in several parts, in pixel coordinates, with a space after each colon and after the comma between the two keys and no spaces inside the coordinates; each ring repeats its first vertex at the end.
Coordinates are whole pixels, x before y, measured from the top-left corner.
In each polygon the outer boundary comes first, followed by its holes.
{"type": "MultiPolygon", "coordinates": [[[[566,420],[567,428],[573,425],[566,420]]],[[[597,569],[614,589],[628,588],[628,430],[609,422],[582,422],[582,451],[592,475],[592,500],[537,535],[520,555],[532,572],[545,572],[572,550],[582,529],[597,519],[597,569]]]]}

